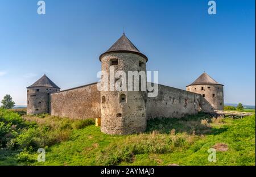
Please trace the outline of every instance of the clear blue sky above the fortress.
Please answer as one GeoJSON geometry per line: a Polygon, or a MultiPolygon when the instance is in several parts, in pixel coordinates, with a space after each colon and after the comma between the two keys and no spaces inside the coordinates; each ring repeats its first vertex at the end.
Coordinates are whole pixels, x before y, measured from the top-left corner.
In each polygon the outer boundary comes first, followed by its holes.
{"type": "Polygon", "coordinates": [[[34,0],[0,2],[0,99],[26,105],[44,73],[61,89],[98,81],[98,57],[121,35],[148,57],[159,83],[185,89],[207,72],[224,102],[255,105],[255,1],[34,0]]]}

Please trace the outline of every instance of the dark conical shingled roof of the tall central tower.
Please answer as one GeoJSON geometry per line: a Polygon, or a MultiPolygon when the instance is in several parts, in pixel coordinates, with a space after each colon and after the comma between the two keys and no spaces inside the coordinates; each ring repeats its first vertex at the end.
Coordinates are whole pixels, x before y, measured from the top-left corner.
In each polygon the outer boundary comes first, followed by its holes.
{"type": "Polygon", "coordinates": [[[129,53],[136,53],[139,54],[140,56],[144,57],[147,61],[147,57],[142,54],[137,47],[131,41],[125,36],[125,33],[110,47],[105,53],[102,53],[100,56],[100,61],[101,57],[104,54],[107,53],[114,53],[114,52],[129,52],[129,53]]]}

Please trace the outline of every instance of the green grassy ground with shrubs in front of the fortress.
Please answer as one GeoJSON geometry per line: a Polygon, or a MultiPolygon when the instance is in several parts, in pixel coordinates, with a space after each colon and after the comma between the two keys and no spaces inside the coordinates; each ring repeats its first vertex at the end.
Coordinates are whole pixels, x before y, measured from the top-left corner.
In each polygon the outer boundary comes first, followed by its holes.
{"type": "Polygon", "coordinates": [[[21,117],[3,109],[0,117],[0,165],[255,165],[255,116],[155,119],[145,133],[127,136],[104,134],[93,120],[21,117]],[[36,161],[39,147],[46,162],[36,161]],[[211,147],[216,162],[208,161],[211,147]]]}

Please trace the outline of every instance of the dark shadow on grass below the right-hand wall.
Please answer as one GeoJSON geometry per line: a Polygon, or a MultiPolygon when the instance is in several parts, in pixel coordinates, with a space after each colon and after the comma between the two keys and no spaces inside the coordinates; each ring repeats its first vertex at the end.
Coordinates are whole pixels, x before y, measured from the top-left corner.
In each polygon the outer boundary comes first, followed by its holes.
{"type": "Polygon", "coordinates": [[[213,128],[209,125],[209,116],[204,113],[197,115],[185,116],[182,118],[158,118],[147,121],[146,132],[153,130],[160,133],[170,133],[175,129],[176,133],[195,133],[195,134],[220,134],[227,130],[227,128],[213,128]]]}

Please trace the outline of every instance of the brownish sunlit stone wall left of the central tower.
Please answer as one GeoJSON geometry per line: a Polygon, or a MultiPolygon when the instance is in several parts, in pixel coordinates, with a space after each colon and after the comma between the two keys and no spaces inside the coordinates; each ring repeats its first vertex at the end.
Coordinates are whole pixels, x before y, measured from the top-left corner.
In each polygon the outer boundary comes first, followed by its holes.
{"type": "Polygon", "coordinates": [[[101,117],[97,83],[55,92],[50,96],[51,115],[71,119],[101,117]]]}

